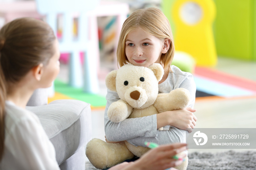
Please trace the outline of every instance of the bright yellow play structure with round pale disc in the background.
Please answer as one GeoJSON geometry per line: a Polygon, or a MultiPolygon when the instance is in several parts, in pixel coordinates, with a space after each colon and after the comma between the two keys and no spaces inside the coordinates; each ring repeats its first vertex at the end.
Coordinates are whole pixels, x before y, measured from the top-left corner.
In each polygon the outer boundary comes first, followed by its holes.
{"type": "Polygon", "coordinates": [[[175,26],[175,49],[192,55],[197,66],[215,66],[217,52],[212,31],[216,16],[214,1],[163,0],[163,11],[175,26]]]}

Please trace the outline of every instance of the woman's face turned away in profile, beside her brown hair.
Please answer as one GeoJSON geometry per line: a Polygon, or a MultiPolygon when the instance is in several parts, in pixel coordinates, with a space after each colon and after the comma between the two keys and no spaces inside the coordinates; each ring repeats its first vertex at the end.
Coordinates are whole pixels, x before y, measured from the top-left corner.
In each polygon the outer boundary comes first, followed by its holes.
{"type": "Polygon", "coordinates": [[[56,39],[54,44],[54,55],[50,58],[49,63],[44,66],[44,73],[41,78],[42,88],[50,87],[52,85],[53,80],[57,77],[60,72],[60,51],[59,51],[59,43],[56,39]]]}

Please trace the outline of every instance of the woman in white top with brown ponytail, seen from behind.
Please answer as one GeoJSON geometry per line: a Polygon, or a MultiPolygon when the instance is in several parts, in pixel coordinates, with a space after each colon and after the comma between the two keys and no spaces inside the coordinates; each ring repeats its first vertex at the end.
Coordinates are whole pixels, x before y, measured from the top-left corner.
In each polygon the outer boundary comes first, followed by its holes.
{"type": "Polygon", "coordinates": [[[25,109],[37,88],[59,73],[58,42],[40,20],[16,19],[0,30],[0,169],[59,169],[38,117],[25,109]]]}

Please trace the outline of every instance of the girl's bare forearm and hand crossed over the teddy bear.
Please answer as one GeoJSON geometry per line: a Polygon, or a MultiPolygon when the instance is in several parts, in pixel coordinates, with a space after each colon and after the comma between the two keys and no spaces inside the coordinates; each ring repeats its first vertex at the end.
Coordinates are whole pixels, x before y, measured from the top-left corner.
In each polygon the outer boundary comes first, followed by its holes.
{"type": "Polygon", "coordinates": [[[185,109],[178,109],[174,111],[167,111],[157,114],[157,128],[171,125],[182,130],[192,132],[196,125],[197,118],[194,115],[196,109],[190,107],[185,109]]]}

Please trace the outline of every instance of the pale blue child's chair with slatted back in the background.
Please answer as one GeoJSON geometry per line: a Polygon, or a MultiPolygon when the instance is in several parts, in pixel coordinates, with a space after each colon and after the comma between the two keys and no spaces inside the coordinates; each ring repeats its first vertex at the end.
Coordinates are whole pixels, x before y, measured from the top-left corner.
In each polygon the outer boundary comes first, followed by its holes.
{"type": "Polygon", "coordinates": [[[69,85],[82,87],[84,92],[98,93],[97,56],[94,55],[93,40],[89,38],[89,20],[87,11],[93,10],[99,0],[36,0],[37,10],[46,16],[46,22],[57,35],[57,15],[63,15],[63,33],[59,41],[61,53],[70,53],[69,85]],[[78,36],[73,36],[74,15],[78,17],[78,36]],[[83,51],[84,71],[80,63],[80,52],[83,51]],[[84,74],[83,74],[84,73],[84,74]]]}

